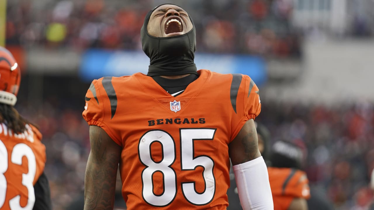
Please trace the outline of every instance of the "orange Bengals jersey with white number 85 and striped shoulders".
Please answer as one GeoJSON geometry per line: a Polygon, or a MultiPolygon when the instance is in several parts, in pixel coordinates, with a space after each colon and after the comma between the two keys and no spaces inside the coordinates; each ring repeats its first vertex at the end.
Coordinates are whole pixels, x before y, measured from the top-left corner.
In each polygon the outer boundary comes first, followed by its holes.
{"type": "Polygon", "coordinates": [[[83,118],[122,146],[122,194],[129,210],[228,206],[228,145],[261,109],[247,75],[199,70],[176,97],[137,73],[94,80],[83,118]]]}

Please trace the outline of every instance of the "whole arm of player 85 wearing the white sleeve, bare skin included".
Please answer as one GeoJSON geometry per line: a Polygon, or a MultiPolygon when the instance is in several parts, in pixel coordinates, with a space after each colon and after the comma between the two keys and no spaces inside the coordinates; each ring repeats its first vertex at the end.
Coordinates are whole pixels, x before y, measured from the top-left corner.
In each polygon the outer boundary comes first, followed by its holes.
{"type": "Polygon", "coordinates": [[[243,210],[274,209],[264,159],[258,150],[256,126],[248,120],[229,144],[236,186],[243,210]]]}

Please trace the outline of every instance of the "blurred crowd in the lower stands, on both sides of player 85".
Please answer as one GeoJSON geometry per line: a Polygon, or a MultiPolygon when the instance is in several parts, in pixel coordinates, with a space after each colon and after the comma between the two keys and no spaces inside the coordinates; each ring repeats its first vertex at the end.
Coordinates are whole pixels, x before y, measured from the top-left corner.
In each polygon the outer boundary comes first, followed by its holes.
{"type": "MultiPolygon", "coordinates": [[[[49,177],[55,210],[63,210],[82,195],[89,132],[79,108],[61,108],[45,102],[21,114],[40,126],[47,148],[49,177]]],[[[27,108],[26,108],[27,107],[27,108]]],[[[263,103],[256,121],[272,132],[272,142],[287,140],[304,151],[303,169],[310,184],[325,191],[336,209],[365,209],[373,199],[369,188],[374,169],[374,105],[303,106],[263,103]]]]}

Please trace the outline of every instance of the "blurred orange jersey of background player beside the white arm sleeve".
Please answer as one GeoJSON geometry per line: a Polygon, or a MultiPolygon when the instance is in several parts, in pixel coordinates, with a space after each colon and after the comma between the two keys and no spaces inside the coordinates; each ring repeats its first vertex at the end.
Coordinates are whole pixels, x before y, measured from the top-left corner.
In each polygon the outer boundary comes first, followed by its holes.
{"type": "Polygon", "coordinates": [[[287,210],[294,198],[310,198],[305,172],[291,168],[268,167],[274,210],[287,210]]]}

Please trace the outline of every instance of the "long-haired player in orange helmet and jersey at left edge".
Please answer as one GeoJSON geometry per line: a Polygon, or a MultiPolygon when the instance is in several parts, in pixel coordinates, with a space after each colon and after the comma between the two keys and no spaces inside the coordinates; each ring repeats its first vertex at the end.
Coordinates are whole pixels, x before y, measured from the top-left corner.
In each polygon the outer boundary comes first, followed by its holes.
{"type": "Polygon", "coordinates": [[[13,107],[21,71],[0,47],[0,209],[50,210],[42,135],[13,107]]]}

